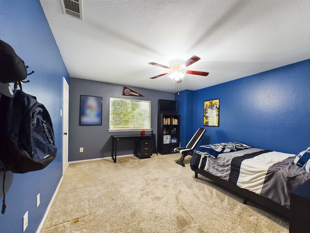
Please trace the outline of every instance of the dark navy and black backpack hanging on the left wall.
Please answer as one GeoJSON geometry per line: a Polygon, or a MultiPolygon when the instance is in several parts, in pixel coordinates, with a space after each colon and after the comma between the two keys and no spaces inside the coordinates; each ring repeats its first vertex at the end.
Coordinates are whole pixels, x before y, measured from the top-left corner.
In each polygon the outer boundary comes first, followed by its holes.
{"type": "Polygon", "coordinates": [[[6,171],[14,173],[41,170],[57,153],[52,120],[35,97],[21,90],[14,93],[13,98],[2,96],[0,100],[0,160],[6,171]]]}

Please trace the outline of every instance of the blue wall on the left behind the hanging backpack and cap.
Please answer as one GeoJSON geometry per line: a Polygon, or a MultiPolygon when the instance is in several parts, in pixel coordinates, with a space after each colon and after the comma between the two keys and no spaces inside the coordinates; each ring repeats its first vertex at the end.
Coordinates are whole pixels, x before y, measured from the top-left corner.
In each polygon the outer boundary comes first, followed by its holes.
{"type": "MultiPolygon", "coordinates": [[[[0,214],[0,232],[22,232],[22,217],[29,211],[29,225],[25,232],[32,233],[41,223],[62,177],[62,77],[69,83],[69,75],[39,0],[2,0],[0,20],[0,39],[15,49],[29,70],[35,71],[28,77],[31,83],[25,83],[23,89],[47,107],[58,148],[56,159],[41,171],[7,172],[7,209],[4,215],[0,214]],[[38,193],[41,204],[36,208],[38,193]]],[[[1,185],[2,176],[3,172],[0,172],[1,185]]],[[[2,191],[0,199],[2,202],[2,191]]]]}

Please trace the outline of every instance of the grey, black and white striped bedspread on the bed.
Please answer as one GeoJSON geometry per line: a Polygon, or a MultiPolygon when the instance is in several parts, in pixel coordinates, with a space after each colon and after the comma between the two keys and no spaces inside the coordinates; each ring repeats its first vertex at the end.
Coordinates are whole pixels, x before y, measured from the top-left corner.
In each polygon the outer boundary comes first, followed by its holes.
{"type": "Polygon", "coordinates": [[[310,179],[310,173],[294,164],[294,157],[257,148],[221,153],[217,159],[194,153],[191,168],[204,169],[289,208],[290,192],[310,179]]]}

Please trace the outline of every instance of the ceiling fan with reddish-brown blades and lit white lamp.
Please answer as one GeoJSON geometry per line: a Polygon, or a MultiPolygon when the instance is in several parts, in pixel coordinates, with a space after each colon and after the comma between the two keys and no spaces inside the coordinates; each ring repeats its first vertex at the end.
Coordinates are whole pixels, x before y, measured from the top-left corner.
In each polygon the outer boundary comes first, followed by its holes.
{"type": "Polygon", "coordinates": [[[197,56],[192,56],[191,58],[189,58],[187,61],[184,61],[183,59],[177,58],[177,59],[172,59],[169,62],[170,67],[164,66],[164,65],[160,65],[158,63],[155,62],[150,62],[150,65],[156,66],[156,67],[163,67],[166,69],[170,69],[170,72],[167,73],[163,73],[163,74],[159,74],[156,75],[150,79],[156,79],[158,77],[170,74],[169,77],[174,81],[177,81],[177,83],[181,83],[182,79],[186,74],[195,74],[195,75],[202,75],[202,76],[207,76],[209,73],[208,72],[203,72],[203,71],[194,71],[194,70],[186,70],[186,67],[189,67],[190,65],[192,65],[193,63],[197,62],[200,60],[200,57],[197,56]]]}

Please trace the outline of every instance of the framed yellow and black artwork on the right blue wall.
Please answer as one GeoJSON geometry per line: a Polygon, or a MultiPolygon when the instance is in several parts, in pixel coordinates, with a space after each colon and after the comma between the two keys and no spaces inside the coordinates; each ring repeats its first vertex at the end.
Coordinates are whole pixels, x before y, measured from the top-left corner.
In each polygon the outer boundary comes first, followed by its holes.
{"type": "Polygon", "coordinates": [[[203,103],[203,126],[218,127],[219,99],[205,100],[203,103]]]}

